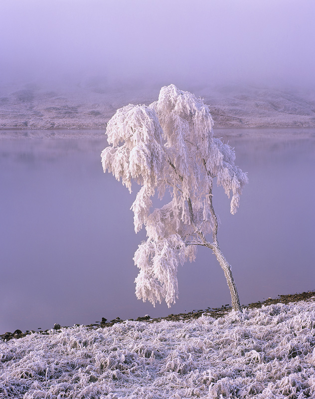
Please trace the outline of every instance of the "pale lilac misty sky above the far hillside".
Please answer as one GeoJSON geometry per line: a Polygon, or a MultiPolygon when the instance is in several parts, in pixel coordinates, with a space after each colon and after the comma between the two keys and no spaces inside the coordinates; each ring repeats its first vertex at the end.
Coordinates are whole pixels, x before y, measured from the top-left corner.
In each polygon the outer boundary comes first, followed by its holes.
{"type": "Polygon", "coordinates": [[[314,0],[1,0],[0,81],[314,85],[314,0]]]}

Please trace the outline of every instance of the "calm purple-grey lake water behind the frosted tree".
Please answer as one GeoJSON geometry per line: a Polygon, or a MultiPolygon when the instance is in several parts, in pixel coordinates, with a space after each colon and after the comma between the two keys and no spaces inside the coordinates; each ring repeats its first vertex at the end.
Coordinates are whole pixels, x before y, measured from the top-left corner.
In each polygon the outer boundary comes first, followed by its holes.
{"type": "MultiPolygon", "coordinates": [[[[239,131],[242,133],[241,131],[239,131]]],[[[248,172],[236,215],[217,189],[219,242],[242,304],[315,290],[315,139],[234,139],[248,172]]],[[[230,302],[215,256],[179,268],[168,309],[136,299],[129,194],[104,174],[104,138],[0,141],[0,333],[165,316],[230,302]]]]}

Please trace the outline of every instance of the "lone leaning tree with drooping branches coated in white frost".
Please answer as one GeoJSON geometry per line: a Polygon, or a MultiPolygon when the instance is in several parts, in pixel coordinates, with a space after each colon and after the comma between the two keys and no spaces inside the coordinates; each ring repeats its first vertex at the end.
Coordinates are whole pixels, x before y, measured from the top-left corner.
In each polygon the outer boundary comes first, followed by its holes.
{"type": "Polygon", "coordinates": [[[178,297],[177,267],[193,261],[196,245],[210,248],[222,267],[234,310],[241,311],[231,267],[218,240],[218,221],[212,205],[216,178],[231,199],[231,213],[239,205],[247,176],[234,165],[234,150],[213,137],[207,105],[174,85],[161,88],[158,101],[117,110],[107,125],[108,143],[102,152],[104,172],[111,172],[131,192],[141,186],[131,209],[135,231],[144,225],[143,241],[134,257],[140,269],[136,295],[153,305],[165,299],[168,307],[178,297]],[[171,200],[152,211],[152,197],[171,200]],[[212,235],[212,242],[206,238],[212,235]]]}

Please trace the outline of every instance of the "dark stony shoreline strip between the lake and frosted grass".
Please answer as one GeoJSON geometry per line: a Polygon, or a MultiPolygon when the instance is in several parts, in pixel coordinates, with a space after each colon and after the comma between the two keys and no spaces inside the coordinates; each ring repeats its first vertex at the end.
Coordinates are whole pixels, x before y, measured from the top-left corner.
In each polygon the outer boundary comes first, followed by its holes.
{"type": "MultiPolygon", "coordinates": [[[[276,305],[279,303],[287,305],[290,303],[297,303],[301,301],[315,302],[315,291],[305,291],[302,293],[285,294],[285,295],[280,294],[278,295],[277,298],[268,298],[265,301],[252,302],[248,305],[244,305],[242,306],[242,309],[261,309],[263,306],[276,305]]],[[[161,321],[182,322],[182,321],[191,321],[194,319],[199,319],[203,315],[210,316],[214,319],[218,319],[220,317],[226,316],[231,310],[232,310],[231,306],[222,305],[220,308],[207,308],[206,310],[191,311],[188,313],[169,314],[168,316],[158,317],[158,318],[151,318],[149,315],[139,316],[135,320],[134,319],[122,320],[119,317],[117,317],[114,320],[107,321],[107,319],[102,318],[103,320],[99,324],[95,323],[88,325],[76,324],[75,327],[86,327],[88,329],[95,330],[100,327],[101,328],[112,327],[115,324],[123,323],[126,321],[141,321],[147,323],[159,323],[161,321]]],[[[49,335],[49,332],[52,330],[55,330],[55,332],[61,332],[62,329],[69,329],[69,328],[71,327],[55,325],[55,327],[44,331],[27,330],[25,333],[23,333],[21,330],[15,330],[13,333],[5,332],[3,334],[0,334],[0,341],[8,342],[11,339],[24,338],[27,335],[36,334],[36,333],[39,335],[49,335]]]]}

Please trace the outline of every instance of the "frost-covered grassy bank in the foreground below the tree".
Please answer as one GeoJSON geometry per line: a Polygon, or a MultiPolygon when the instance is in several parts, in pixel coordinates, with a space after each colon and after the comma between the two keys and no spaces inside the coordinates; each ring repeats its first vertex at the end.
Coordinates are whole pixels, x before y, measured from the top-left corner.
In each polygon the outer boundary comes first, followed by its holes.
{"type": "Polygon", "coordinates": [[[0,344],[0,398],[315,398],[315,302],[0,344]]]}

